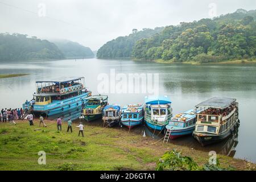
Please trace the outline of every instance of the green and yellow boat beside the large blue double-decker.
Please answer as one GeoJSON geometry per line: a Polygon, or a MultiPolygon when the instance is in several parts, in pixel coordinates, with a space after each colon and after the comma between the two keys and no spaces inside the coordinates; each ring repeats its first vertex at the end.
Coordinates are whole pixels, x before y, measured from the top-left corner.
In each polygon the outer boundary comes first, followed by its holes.
{"type": "Polygon", "coordinates": [[[86,121],[102,118],[103,109],[108,105],[108,96],[90,96],[86,98],[86,104],[82,109],[82,116],[86,121]]]}

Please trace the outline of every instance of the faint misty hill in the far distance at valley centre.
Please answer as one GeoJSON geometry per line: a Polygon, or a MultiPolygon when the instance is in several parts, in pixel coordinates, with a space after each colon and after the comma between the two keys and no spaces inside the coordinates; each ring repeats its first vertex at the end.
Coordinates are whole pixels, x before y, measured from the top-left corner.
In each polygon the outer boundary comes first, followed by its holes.
{"type": "Polygon", "coordinates": [[[66,58],[92,58],[94,53],[89,47],[84,47],[76,42],[69,40],[53,40],[66,58]]]}

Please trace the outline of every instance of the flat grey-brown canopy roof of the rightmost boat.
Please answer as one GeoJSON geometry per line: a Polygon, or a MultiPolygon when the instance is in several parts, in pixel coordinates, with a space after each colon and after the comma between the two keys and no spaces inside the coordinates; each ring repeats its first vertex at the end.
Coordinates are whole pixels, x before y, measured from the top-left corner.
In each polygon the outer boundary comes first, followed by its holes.
{"type": "Polygon", "coordinates": [[[213,107],[217,109],[225,109],[226,107],[232,105],[233,102],[236,102],[235,98],[228,97],[213,97],[207,101],[201,102],[196,105],[196,107],[213,107]]]}

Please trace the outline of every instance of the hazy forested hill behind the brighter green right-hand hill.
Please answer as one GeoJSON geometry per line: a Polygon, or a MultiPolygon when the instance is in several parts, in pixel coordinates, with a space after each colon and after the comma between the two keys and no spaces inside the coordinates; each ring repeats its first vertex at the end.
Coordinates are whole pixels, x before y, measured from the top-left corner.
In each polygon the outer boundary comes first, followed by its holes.
{"type": "Polygon", "coordinates": [[[142,31],[133,30],[129,36],[120,36],[111,40],[98,49],[97,57],[101,59],[114,59],[122,57],[131,57],[131,51],[137,40],[149,38],[163,30],[163,27],[156,27],[154,30],[144,28],[142,31]]]}

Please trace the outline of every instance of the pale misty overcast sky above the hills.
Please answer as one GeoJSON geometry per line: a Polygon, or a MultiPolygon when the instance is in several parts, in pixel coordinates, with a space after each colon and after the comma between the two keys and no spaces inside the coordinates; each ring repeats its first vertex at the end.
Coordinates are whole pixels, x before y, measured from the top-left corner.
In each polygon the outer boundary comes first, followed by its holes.
{"type": "Polygon", "coordinates": [[[209,12],[221,15],[240,8],[256,9],[256,1],[0,0],[0,32],[68,39],[97,50],[109,40],[129,35],[133,28],[176,25],[212,18],[209,12]],[[216,11],[210,11],[214,8],[211,3],[216,5],[216,11]]]}

